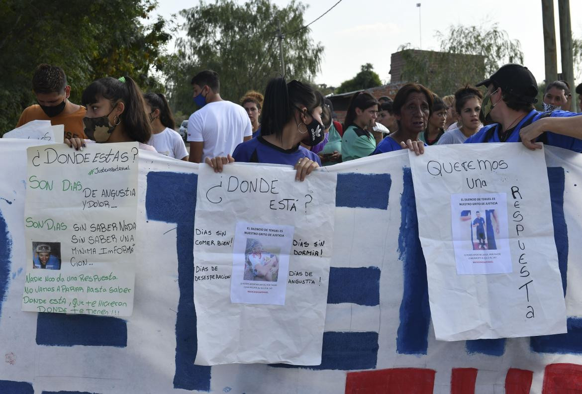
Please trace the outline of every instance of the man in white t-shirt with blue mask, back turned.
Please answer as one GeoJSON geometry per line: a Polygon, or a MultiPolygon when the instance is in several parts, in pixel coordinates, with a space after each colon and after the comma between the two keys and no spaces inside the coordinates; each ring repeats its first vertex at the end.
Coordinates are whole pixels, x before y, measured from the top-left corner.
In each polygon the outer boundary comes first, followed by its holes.
{"type": "Polygon", "coordinates": [[[253,129],[244,108],[220,97],[218,73],[201,71],[191,84],[194,102],[200,107],[188,119],[191,162],[226,157],[235,151],[236,145],[251,139],[253,129]]]}

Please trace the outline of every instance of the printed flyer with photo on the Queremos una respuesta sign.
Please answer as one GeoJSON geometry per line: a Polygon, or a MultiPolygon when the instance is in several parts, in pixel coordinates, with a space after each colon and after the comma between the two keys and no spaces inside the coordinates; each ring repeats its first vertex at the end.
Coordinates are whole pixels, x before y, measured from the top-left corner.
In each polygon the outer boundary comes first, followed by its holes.
{"type": "Polygon", "coordinates": [[[457,274],[512,272],[507,194],[451,194],[457,274]]]}

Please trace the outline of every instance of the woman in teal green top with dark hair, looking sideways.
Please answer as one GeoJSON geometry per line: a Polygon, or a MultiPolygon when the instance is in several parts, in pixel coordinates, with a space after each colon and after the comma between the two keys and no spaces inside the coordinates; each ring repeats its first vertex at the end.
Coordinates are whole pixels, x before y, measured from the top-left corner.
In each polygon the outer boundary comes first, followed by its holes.
{"type": "Polygon", "coordinates": [[[371,130],[378,116],[378,101],[371,94],[354,95],[347,109],[346,131],[342,138],[342,160],[349,161],[369,156],[376,148],[371,130]]]}

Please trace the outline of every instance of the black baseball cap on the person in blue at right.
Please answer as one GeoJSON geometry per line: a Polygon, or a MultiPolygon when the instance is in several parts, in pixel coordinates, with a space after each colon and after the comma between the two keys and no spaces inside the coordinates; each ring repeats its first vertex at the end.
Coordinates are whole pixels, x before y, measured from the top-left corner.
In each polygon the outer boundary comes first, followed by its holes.
{"type": "Polygon", "coordinates": [[[511,93],[520,98],[520,100],[531,102],[532,104],[538,102],[536,98],[538,84],[535,81],[534,74],[527,67],[515,63],[503,65],[492,76],[475,86],[489,86],[492,82],[501,87],[504,93],[511,93]]]}

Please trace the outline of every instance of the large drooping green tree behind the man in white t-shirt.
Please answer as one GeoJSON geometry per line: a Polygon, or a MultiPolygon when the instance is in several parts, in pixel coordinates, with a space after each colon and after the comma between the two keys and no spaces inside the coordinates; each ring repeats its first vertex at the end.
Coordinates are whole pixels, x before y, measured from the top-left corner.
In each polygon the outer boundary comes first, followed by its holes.
{"type": "Polygon", "coordinates": [[[278,20],[285,33],[286,78],[310,81],[320,69],[324,48],[313,42],[310,29],[301,29],[305,9],[295,0],[283,8],[269,0],[217,0],[180,11],[187,37],[178,40],[178,52],[167,59],[165,72],[172,109],[194,109],[190,80],[204,69],[219,74],[226,100],[238,102],[249,89],[264,91],[268,80],[280,74],[278,20]]]}

